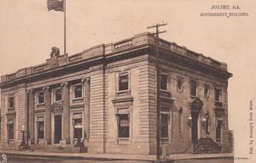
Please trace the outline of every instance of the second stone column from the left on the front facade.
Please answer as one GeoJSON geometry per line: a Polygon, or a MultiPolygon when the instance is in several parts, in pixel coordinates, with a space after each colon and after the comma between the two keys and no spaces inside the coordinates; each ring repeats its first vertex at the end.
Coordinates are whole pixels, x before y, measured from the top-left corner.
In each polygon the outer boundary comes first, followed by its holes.
{"type": "Polygon", "coordinates": [[[49,87],[44,87],[45,97],[45,139],[47,144],[51,144],[51,95],[49,87]]]}

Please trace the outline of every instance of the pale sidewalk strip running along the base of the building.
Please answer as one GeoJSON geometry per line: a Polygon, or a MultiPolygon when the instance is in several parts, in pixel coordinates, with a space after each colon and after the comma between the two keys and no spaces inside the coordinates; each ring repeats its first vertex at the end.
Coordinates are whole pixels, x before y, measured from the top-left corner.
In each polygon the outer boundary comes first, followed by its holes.
{"type": "MultiPolygon", "coordinates": [[[[0,154],[17,155],[26,157],[66,157],[84,160],[145,160],[154,161],[155,155],[122,155],[122,154],[92,154],[92,153],[47,153],[39,151],[16,151],[16,150],[0,150],[0,154]]],[[[233,158],[232,153],[220,154],[172,154],[167,160],[191,160],[191,159],[213,159],[213,158],[233,158]]]]}

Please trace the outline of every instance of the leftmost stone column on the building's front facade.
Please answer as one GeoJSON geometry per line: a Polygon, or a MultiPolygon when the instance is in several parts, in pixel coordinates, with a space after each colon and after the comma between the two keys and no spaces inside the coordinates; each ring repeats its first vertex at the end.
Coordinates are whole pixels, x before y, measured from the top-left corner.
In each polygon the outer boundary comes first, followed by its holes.
{"type": "Polygon", "coordinates": [[[29,91],[29,136],[30,136],[30,143],[34,144],[35,143],[35,137],[34,137],[34,122],[35,122],[35,117],[34,117],[34,93],[33,91],[29,91]]]}

